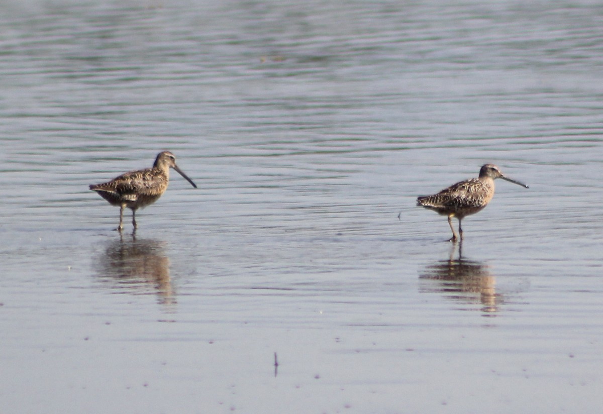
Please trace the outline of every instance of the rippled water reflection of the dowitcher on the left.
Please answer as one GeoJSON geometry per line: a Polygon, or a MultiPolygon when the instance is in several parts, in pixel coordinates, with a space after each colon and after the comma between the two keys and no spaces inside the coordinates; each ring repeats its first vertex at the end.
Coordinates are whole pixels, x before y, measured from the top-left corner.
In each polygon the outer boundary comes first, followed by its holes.
{"type": "Polygon", "coordinates": [[[112,242],[98,260],[99,277],[113,289],[134,294],[156,293],[160,304],[176,303],[169,277],[165,242],[132,238],[112,242]]]}

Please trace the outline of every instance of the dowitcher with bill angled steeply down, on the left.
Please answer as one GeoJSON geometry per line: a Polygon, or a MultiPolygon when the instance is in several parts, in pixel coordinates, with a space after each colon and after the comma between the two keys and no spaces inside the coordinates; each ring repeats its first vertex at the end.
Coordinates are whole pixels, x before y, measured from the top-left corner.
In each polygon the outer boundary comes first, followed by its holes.
{"type": "Polygon", "coordinates": [[[117,178],[103,184],[93,184],[90,190],[96,191],[111,205],[119,205],[119,227],[124,228],[124,209],[132,210],[132,225],[136,229],[136,210],[156,202],[168,188],[169,169],[175,169],[178,174],[197,188],[191,178],[176,165],[176,157],[169,151],[159,152],[153,168],[126,172],[117,178]]]}

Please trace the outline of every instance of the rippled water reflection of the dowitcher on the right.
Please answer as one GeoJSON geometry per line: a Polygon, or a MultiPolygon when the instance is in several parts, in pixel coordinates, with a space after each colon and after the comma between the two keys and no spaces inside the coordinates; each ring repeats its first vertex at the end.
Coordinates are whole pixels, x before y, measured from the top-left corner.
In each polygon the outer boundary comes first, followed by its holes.
{"type": "Polygon", "coordinates": [[[496,277],[487,265],[464,259],[459,245],[458,259],[454,259],[455,246],[451,246],[449,260],[441,260],[419,275],[420,292],[440,292],[447,298],[467,304],[481,304],[484,316],[494,316],[499,311],[503,297],[496,293],[496,277]]]}

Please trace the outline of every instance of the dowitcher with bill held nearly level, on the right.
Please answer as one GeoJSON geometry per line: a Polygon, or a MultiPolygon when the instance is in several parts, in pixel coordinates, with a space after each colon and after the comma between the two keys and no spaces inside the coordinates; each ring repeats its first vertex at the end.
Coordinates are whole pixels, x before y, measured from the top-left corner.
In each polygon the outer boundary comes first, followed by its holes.
{"type": "Polygon", "coordinates": [[[494,180],[496,178],[502,178],[510,183],[528,188],[526,184],[505,177],[496,165],[486,164],[479,170],[478,178],[460,181],[434,195],[419,197],[417,198],[417,205],[434,210],[443,216],[448,216],[448,224],[450,230],[452,230],[452,238],[448,240],[449,242],[456,242],[459,238],[452,226],[452,218],[456,217],[458,219],[458,233],[462,240],[461,220],[465,216],[480,212],[488,205],[488,202],[494,196],[494,180]]]}

